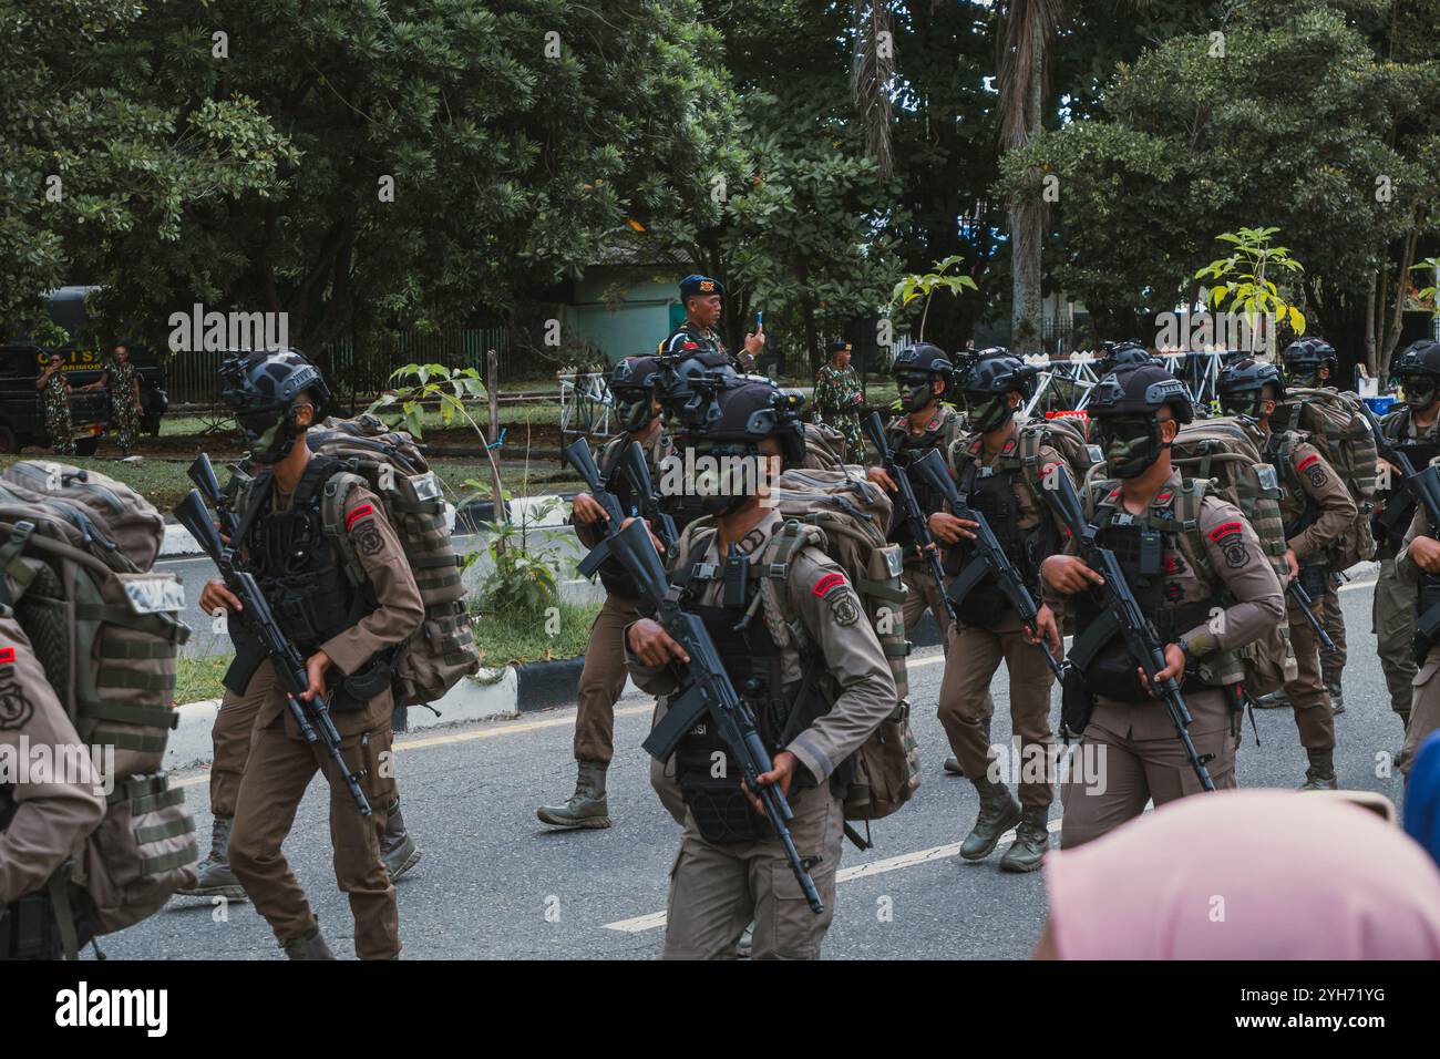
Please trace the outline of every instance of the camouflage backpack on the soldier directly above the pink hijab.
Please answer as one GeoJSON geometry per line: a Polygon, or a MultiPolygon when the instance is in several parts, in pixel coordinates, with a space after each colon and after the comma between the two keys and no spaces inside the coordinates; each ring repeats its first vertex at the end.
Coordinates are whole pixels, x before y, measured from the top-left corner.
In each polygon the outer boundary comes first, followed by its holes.
{"type": "MultiPolygon", "coordinates": [[[[1290,578],[1284,560],[1284,522],[1280,517],[1280,481],[1274,467],[1260,452],[1254,435],[1237,419],[1197,419],[1181,426],[1171,445],[1171,464],[1184,478],[1207,480],[1205,491],[1234,504],[1260,537],[1260,548],[1284,585],[1290,578]]],[[[1204,542],[1198,529],[1188,535],[1191,562],[1202,569],[1204,542]]],[[[1295,651],[1287,622],[1241,650],[1246,683],[1253,694],[1279,690],[1296,676],[1295,651]]]]}

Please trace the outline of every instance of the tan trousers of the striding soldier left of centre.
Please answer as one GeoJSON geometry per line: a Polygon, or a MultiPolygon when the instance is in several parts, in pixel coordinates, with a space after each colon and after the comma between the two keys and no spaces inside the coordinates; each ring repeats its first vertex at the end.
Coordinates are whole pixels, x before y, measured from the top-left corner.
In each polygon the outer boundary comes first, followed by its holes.
{"type": "MultiPolygon", "coordinates": [[[[256,680],[269,679],[268,673],[269,667],[262,667],[256,680]]],[[[251,682],[246,693],[255,690],[256,684],[251,682]]],[[[380,860],[386,807],[395,800],[390,692],[372,700],[364,712],[377,719],[370,729],[343,736],[340,754],[348,768],[364,772],[360,785],[374,816],[360,816],[344,778],[321,745],[307,743],[287,730],[288,719],[282,713],[255,730],[230,836],[230,870],[281,942],[315,925],[305,890],[289,870],[281,844],[295,823],[295,810],[305,788],[317,771],[323,772],[330,784],[336,882],[350,895],[356,955],[361,960],[389,960],[400,951],[395,886],[380,860]]]]}

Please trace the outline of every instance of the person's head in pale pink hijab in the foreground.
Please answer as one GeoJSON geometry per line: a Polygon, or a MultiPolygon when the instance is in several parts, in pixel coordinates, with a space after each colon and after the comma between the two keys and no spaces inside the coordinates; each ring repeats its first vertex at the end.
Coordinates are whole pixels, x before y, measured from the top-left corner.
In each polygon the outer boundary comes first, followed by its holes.
{"type": "Polygon", "coordinates": [[[1440,960],[1440,872],[1368,808],[1181,798],[1045,859],[1050,960],[1440,960]]]}

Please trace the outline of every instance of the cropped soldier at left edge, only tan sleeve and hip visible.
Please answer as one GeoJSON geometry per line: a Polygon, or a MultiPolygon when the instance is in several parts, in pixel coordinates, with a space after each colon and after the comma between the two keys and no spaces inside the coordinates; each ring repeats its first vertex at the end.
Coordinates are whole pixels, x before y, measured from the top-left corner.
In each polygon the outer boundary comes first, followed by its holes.
{"type": "MultiPolygon", "coordinates": [[[[53,759],[73,752],[89,762],[65,707],[20,622],[0,617],[0,754],[20,759],[52,748],[53,759]]],[[[96,775],[23,775],[0,782],[0,961],[59,960],[50,876],[105,816],[96,775]],[[23,782],[20,782],[23,779],[23,782]]]]}

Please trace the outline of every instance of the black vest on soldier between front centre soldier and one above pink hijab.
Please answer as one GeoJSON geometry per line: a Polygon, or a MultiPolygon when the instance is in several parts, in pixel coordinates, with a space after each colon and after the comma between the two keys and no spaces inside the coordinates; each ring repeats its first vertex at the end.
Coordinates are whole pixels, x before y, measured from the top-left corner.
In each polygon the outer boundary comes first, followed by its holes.
{"type": "MultiPolygon", "coordinates": [[[[1034,434],[1020,434],[1005,445],[992,467],[981,463],[981,447],[976,438],[969,444],[956,442],[952,450],[959,473],[960,497],[985,516],[1005,556],[1025,581],[1025,588],[1034,596],[1040,595],[1040,563],[1048,555],[1060,550],[1060,535],[1054,522],[1045,513],[1044,501],[1035,496],[1034,483],[1041,478],[1040,445],[1034,434]],[[1022,530],[1018,524],[1020,506],[1015,503],[1015,483],[1030,491],[1040,522],[1022,530]]],[[[960,549],[965,550],[963,546],[960,549]]],[[[966,625],[995,628],[1002,617],[1012,615],[1015,608],[999,589],[995,575],[986,575],[965,596],[959,617],[966,625]]]]}

